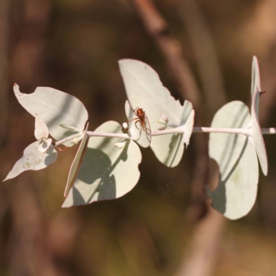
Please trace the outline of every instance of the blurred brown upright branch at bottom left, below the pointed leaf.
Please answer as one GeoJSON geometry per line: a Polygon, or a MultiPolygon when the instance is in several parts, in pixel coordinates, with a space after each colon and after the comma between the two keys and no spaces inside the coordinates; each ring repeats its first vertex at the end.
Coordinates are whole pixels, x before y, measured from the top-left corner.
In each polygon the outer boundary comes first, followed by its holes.
{"type": "MultiPolygon", "coordinates": [[[[14,188],[14,187],[13,187],[14,188]]],[[[46,241],[43,218],[34,186],[28,177],[21,177],[12,201],[12,231],[10,235],[10,273],[12,275],[59,275],[51,259],[46,241]]]]}

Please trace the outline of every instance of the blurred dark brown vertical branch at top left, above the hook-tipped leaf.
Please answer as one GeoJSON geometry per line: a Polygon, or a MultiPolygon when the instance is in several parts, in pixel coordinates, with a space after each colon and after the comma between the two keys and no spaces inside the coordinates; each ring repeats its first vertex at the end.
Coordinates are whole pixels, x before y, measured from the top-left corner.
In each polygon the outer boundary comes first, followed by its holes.
{"type": "Polygon", "coordinates": [[[37,86],[43,77],[43,51],[50,1],[24,0],[22,5],[22,21],[15,28],[14,37],[17,36],[17,29],[23,35],[17,37],[17,43],[10,50],[10,72],[17,77],[17,81],[22,80],[21,87],[24,89],[26,86],[37,86]]]}

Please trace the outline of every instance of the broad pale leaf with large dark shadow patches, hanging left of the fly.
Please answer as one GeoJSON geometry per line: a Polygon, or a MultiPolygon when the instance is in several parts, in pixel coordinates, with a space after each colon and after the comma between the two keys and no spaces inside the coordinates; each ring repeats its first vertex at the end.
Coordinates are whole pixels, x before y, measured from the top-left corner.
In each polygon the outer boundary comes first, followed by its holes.
{"type": "MultiPolygon", "coordinates": [[[[121,125],[107,121],[97,132],[123,133],[121,125]]],[[[83,164],[62,207],[116,199],[135,187],[140,177],[141,152],[134,141],[117,148],[119,138],[90,137],[83,164]]]]}

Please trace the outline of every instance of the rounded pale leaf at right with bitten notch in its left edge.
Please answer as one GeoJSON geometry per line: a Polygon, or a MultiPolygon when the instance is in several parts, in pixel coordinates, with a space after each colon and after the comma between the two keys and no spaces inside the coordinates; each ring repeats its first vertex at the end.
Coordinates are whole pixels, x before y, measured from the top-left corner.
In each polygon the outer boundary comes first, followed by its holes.
{"type": "MultiPolygon", "coordinates": [[[[213,128],[248,128],[250,114],[241,101],[232,101],[219,109],[213,128]]],[[[253,141],[246,135],[211,133],[209,155],[219,166],[219,185],[207,188],[213,207],[228,219],[246,215],[257,196],[259,169],[253,141]]]]}

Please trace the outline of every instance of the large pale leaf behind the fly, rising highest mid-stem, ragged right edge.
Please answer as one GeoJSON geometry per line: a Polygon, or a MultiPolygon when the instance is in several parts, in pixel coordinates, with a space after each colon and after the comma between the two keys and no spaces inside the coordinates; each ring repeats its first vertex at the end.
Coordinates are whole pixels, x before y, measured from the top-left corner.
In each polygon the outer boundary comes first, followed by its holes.
{"type": "Polygon", "coordinates": [[[150,147],[161,163],[168,167],[179,164],[184,152],[184,143],[188,145],[193,131],[194,110],[190,102],[181,106],[161,83],[157,72],[148,64],[122,59],[119,68],[124,79],[126,95],[132,108],[143,108],[150,121],[152,131],[163,125],[158,123],[162,115],[168,117],[168,126],[185,126],[184,135],[173,134],[152,137],[150,147]]]}

